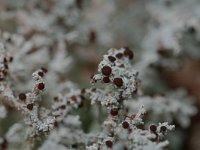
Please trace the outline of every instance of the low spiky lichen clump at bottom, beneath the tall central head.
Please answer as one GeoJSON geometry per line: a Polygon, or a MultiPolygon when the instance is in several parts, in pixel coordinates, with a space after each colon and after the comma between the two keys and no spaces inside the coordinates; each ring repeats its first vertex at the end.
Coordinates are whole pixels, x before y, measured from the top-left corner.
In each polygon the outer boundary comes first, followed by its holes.
{"type": "MultiPolygon", "coordinates": [[[[146,130],[143,127],[143,115],[145,109],[139,108],[137,113],[127,116],[125,120],[117,117],[122,122],[117,122],[108,119],[104,122],[103,135],[100,134],[99,140],[96,143],[88,146],[88,150],[94,149],[164,149],[169,143],[163,140],[163,135],[174,129],[173,125],[168,125],[167,122],[159,123],[157,131],[146,130]],[[106,130],[107,129],[107,130],[106,130]],[[160,132],[159,132],[160,131],[160,132]],[[158,133],[159,132],[159,133],[158,133]],[[98,143],[98,144],[97,144],[98,143]]],[[[152,128],[152,127],[150,127],[152,128]]]]}

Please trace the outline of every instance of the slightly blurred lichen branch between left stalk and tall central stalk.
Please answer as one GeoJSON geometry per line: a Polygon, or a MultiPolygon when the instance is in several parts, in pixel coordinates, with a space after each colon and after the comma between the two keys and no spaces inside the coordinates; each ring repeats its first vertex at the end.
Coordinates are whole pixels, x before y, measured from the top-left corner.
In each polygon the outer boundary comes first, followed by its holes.
{"type": "Polygon", "coordinates": [[[83,101],[80,94],[81,91],[73,83],[66,82],[62,85],[52,105],[55,130],[51,132],[39,150],[54,150],[55,148],[75,150],[85,147],[87,137],[81,129],[80,117],[72,115],[72,110],[80,107],[83,101]]]}

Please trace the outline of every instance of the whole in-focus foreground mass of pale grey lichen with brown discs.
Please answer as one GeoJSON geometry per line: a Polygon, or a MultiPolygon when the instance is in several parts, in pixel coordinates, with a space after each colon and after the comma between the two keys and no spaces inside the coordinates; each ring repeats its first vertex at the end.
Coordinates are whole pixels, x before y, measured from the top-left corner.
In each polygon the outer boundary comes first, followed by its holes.
{"type": "Polygon", "coordinates": [[[138,73],[135,71],[128,73],[127,71],[131,69],[130,59],[132,57],[133,52],[129,48],[109,50],[108,55],[105,55],[99,64],[98,71],[100,74],[95,75],[92,79],[93,82],[97,82],[108,77],[110,82],[103,82],[105,89],[80,90],[73,83],[66,82],[60,86],[60,92],[53,97],[52,108],[45,108],[40,104],[43,92],[47,87],[45,76],[48,71],[41,68],[33,72],[32,91],[21,92],[17,97],[14,94],[12,95],[14,105],[11,106],[22,111],[26,126],[22,128],[22,123],[16,123],[10,127],[7,134],[1,139],[1,147],[12,149],[17,144],[19,148],[32,149],[35,146],[34,143],[27,146],[15,139],[22,133],[26,133],[24,140],[27,142],[28,139],[33,142],[40,140],[41,136],[45,136],[46,141],[41,144],[40,150],[54,148],[119,149],[119,147],[161,150],[166,147],[168,141],[163,141],[163,136],[168,130],[174,129],[174,126],[163,123],[158,126],[154,125],[153,129],[151,126],[146,130],[139,128],[139,126],[144,125],[142,119],[145,114],[144,107],[141,105],[138,112],[131,113],[126,110],[123,104],[123,101],[126,101],[127,98],[133,97],[138,88],[138,84],[135,83],[139,80],[137,78],[138,73]],[[122,63],[123,66],[121,66],[122,63]],[[109,72],[107,69],[105,71],[103,69],[105,66],[109,66],[113,71],[109,72]],[[97,78],[97,76],[101,78],[97,78]],[[115,81],[116,78],[121,79],[120,86],[119,81],[115,81]],[[128,89],[127,92],[126,89],[128,89]],[[91,131],[90,134],[83,132],[80,117],[73,114],[73,110],[82,107],[86,99],[90,99],[92,104],[97,104],[99,101],[109,110],[101,125],[102,130],[91,131]]]}

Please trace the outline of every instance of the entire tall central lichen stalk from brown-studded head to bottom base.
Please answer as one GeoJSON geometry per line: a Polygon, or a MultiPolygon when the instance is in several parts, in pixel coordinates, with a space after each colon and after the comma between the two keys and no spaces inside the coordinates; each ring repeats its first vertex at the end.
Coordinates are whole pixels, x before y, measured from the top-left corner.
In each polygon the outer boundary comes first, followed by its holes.
{"type": "MultiPolygon", "coordinates": [[[[143,106],[138,107],[138,112],[133,113],[124,105],[126,100],[133,99],[139,83],[138,72],[133,70],[130,62],[132,58],[133,52],[127,47],[108,50],[108,54],[103,56],[103,60],[98,66],[98,74],[92,78],[92,83],[100,81],[104,87],[86,90],[86,96],[91,99],[92,104],[100,102],[108,110],[108,115],[103,122],[103,133],[101,133],[103,137],[100,134],[100,140],[88,146],[89,150],[93,147],[98,149],[116,149],[117,147],[143,149],[150,145],[162,149],[167,145],[166,141],[161,142],[161,145],[158,144],[162,134],[155,134],[138,127],[144,124],[142,117],[145,109],[143,106]],[[154,143],[156,136],[159,138],[154,143]],[[140,141],[137,141],[138,139],[140,141]]],[[[164,130],[164,127],[166,128],[165,132],[174,128],[167,123],[159,125],[158,128],[164,130]]]]}

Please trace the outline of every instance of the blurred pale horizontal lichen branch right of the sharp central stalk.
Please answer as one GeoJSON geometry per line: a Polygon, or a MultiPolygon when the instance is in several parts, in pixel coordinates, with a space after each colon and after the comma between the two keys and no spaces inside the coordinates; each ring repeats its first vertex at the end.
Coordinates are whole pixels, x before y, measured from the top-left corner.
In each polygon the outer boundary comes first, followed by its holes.
{"type": "Polygon", "coordinates": [[[125,101],[130,111],[135,111],[141,105],[146,108],[149,120],[177,121],[179,125],[186,128],[190,125],[190,118],[197,113],[197,108],[192,103],[186,91],[179,89],[166,93],[165,96],[141,96],[136,100],[125,101]]]}

